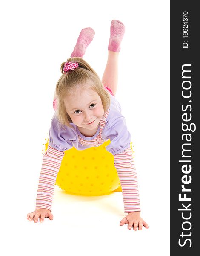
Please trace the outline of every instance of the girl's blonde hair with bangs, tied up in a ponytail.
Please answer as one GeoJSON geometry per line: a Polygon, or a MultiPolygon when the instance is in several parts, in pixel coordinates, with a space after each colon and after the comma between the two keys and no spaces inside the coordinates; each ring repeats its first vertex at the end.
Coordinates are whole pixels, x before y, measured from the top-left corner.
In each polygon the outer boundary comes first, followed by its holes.
{"type": "Polygon", "coordinates": [[[84,88],[86,83],[88,83],[87,88],[91,88],[100,96],[104,111],[107,111],[110,106],[109,93],[104,89],[99,76],[90,65],[79,57],[68,58],[67,61],[78,62],[78,67],[66,72],[66,74],[63,74],[65,62],[63,62],[60,67],[62,76],[60,76],[60,79],[57,81],[55,91],[57,96],[56,116],[63,129],[65,129],[65,125],[71,128],[70,122],[72,122],[70,116],[66,112],[64,99],[69,93],[75,91],[75,89],[80,87],[84,88]]]}

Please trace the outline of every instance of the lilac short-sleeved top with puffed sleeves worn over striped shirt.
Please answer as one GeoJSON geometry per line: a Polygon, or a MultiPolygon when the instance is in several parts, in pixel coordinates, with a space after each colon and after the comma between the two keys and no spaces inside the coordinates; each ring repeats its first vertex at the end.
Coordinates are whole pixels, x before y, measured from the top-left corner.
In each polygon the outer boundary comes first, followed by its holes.
{"type": "MultiPolygon", "coordinates": [[[[106,147],[106,150],[115,155],[130,147],[131,134],[127,130],[125,118],[121,114],[120,103],[111,94],[109,94],[109,96],[111,104],[101,136],[103,142],[110,139],[111,143],[106,147]]],[[[84,150],[89,148],[90,145],[84,146],[80,144],[78,135],[84,140],[93,140],[97,137],[100,131],[99,124],[97,132],[92,137],[85,137],[80,133],[74,123],[70,123],[70,125],[73,128],[65,126],[65,129],[62,129],[55,112],[51,119],[51,127],[49,129],[49,145],[51,145],[51,147],[56,148],[59,151],[66,151],[72,147],[75,147],[77,150],[84,150]]]]}

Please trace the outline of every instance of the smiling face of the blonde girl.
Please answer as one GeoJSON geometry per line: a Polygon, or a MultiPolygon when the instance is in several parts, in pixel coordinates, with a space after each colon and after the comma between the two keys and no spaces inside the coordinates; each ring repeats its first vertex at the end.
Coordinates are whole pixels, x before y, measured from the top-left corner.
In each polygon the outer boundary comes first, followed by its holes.
{"type": "Polygon", "coordinates": [[[91,89],[78,89],[66,96],[64,103],[72,122],[88,130],[97,128],[104,114],[100,96],[91,89]]]}

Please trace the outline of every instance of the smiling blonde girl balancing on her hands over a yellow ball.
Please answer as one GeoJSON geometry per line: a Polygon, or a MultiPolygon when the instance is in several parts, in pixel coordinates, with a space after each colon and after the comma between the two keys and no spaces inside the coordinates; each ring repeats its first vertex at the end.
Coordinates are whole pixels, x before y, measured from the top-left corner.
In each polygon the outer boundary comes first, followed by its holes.
{"type": "Polygon", "coordinates": [[[62,76],[54,94],[55,114],[49,129],[49,145],[43,155],[43,165],[37,190],[36,209],[27,219],[43,222],[53,219],[51,203],[57,172],[66,150],[73,146],[79,150],[111,143],[107,151],[114,155],[122,187],[125,213],[120,225],[142,230],[148,224],[140,217],[140,200],[137,173],[131,151],[131,135],[122,116],[121,107],[114,97],[117,91],[118,54],[125,26],[118,20],[111,21],[109,55],[102,81],[97,73],[83,60],[86,48],[94,37],[91,28],[82,29],[74,51],[61,65],[62,76]]]}

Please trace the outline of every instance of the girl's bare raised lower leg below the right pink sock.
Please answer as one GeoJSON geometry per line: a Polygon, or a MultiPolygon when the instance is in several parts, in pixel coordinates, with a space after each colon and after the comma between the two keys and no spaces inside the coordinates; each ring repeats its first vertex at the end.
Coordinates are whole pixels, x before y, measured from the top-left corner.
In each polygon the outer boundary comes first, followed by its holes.
{"type": "Polygon", "coordinates": [[[113,94],[117,92],[118,83],[118,52],[109,51],[108,61],[102,77],[103,85],[111,88],[113,94]]]}

